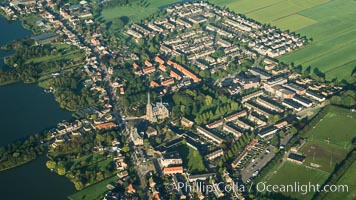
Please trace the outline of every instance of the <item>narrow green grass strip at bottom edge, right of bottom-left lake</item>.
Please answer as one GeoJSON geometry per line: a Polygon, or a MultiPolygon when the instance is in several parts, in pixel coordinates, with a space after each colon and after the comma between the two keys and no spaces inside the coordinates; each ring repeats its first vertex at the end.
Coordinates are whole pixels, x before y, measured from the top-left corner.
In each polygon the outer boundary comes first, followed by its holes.
{"type": "Polygon", "coordinates": [[[99,197],[102,197],[105,192],[107,192],[109,189],[106,188],[106,186],[110,183],[115,183],[117,181],[117,177],[113,176],[111,178],[105,179],[99,183],[96,183],[95,185],[92,185],[90,187],[87,187],[77,193],[74,193],[70,195],[68,198],[72,200],[79,200],[79,199],[87,199],[87,200],[93,200],[93,199],[99,199],[99,197]]]}

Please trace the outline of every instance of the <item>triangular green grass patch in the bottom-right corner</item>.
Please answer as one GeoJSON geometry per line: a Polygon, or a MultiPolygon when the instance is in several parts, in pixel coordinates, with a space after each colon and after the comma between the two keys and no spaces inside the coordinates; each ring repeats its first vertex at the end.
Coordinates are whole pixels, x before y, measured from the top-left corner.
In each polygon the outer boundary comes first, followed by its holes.
{"type": "Polygon", "coordinates": [[[326,196],[326,200],[333,199],[355,199],[356,197],[356,162],[354,161],[347,172],[340,178],[336,185],[347,185],[348,192],[330,192],[326,196]]]}

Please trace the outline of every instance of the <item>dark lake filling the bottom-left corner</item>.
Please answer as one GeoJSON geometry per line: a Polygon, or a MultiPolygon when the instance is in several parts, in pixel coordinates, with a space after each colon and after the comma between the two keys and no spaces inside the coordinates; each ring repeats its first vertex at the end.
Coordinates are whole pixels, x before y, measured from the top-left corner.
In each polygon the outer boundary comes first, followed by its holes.
{"type": "Polygon", "coordinates": [[[42,156],[26,165],[0,173],[0,199],[64,200],[75,192],[64,176],[47,169],[42,156]]]}

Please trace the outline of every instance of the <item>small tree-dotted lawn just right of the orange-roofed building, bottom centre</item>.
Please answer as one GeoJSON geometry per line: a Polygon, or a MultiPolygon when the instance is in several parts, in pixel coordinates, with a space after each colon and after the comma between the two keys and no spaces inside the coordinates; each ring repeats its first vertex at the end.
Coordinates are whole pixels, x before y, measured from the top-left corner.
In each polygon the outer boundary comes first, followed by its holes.
{"type": "Polygon", "coordinates": [[[183,160],[183,165],[189,172],[200,172],[205,170],[203,158],[199,151],[188,147],[187,145],[180,145],[174,151],[179,152],[183,160]]]}

